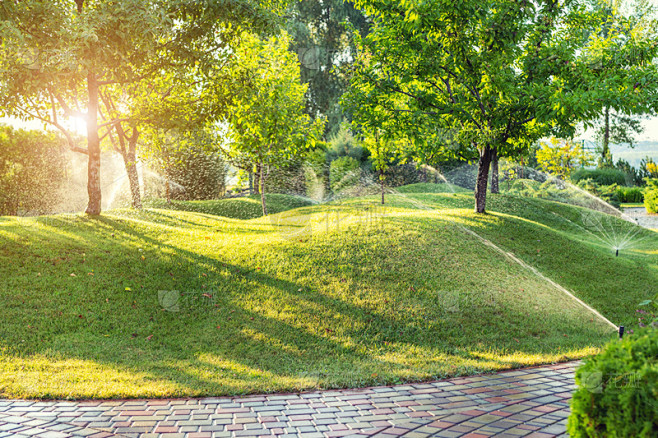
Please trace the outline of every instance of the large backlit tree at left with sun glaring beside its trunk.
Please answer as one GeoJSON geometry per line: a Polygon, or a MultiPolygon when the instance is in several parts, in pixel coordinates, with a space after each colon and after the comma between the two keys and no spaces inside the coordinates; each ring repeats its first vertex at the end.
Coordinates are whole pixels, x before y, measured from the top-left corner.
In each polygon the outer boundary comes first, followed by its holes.
{"type": "MultiPolygon", "coordinates": [[[[133,120],[112,118],[110,111],[99,120],[108,88],[128,87],[172,66],[210,62],[245,23],[271,26],[269,7],[276,6],[274,1],[3,1],[0,107],[59,129],[72,150],[88,155],[86,212],[100,214],[101,140],[116,129],[118,141],[134,140],[134,146],[138,136],[133,120]],[[86,148],[67,127],[70,117],[85,121],[86,148]],[[131,125],[127,135],[119,125],[124,122],[131,125]]],[[[127,153],[131,173],[130,145],[127,153]]],[[[131,185],[135,176],[132,172],[131,185]]]]}

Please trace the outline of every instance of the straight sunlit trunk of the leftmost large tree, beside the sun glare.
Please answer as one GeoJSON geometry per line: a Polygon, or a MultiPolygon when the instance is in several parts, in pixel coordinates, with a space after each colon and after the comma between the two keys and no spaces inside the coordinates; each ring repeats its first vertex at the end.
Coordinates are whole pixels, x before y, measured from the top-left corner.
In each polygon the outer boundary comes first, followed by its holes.
{"type": "Polygon", "coordinates": [[[98,82],[93,72],[87,75],[89,105],[87,111],[87,150],[89,165],[87,167],[87,194],[89,203],[86,213],[101,214],[101,145],[98,137],[98,82]]]}

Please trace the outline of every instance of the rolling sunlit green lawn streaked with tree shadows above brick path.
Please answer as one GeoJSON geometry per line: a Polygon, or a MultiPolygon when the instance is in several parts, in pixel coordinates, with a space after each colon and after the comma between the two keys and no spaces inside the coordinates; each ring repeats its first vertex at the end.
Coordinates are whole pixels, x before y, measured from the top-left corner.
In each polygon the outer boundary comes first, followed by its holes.
{"type": "Polygon", "coordinates": [[[615,336],[456,224],[615,323],[632,325],[658,292],[651,231],[614,257],[562,204],[492,196],[480,217],[470,193],[376,200],[251,220],[165,209],[0,218],[0,394],[391,384],[579,358],[615,336]]]}

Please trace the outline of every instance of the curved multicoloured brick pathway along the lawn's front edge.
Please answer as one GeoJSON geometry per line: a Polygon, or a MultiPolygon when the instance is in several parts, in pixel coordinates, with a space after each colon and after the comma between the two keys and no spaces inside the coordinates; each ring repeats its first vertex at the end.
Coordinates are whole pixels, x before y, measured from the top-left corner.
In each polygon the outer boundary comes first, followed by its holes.
{"type": "Polygon", "coordinates": [[[188,400],[0,400],[0,437],[566,436],[577,362],[433,383],[188,400]]]}

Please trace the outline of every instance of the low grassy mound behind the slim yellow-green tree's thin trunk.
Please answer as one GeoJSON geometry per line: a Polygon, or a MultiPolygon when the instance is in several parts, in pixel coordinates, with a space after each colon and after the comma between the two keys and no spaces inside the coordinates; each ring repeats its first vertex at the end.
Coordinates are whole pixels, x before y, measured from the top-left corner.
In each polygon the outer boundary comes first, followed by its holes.
{"type": "MultiPolygon", "coordinates": [[[[311,200],[300,196],[278,193],[266,194],[265,203],[270,214],[313,204],[311,200]]],[[[150,208],[205,213],[233,219],[253,219],[263,215],[260,195],[212,201],[171,201],[170,204],[167,204],[167,201],[164,199],[152,199],[146,202],[146,206],[150,208]]]]}

